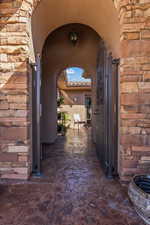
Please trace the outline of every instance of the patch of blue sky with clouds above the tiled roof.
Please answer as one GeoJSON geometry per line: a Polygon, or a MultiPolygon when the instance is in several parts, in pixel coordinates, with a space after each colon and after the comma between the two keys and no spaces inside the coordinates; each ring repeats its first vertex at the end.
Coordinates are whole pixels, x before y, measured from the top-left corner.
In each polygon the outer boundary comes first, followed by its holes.
{"type": "Polygon", "coordinates": [[[67,69],[68,81],[91,81],[90,79],[85,79],[82,77],[84,70],[78,67],[71,67],[67,69]]]}

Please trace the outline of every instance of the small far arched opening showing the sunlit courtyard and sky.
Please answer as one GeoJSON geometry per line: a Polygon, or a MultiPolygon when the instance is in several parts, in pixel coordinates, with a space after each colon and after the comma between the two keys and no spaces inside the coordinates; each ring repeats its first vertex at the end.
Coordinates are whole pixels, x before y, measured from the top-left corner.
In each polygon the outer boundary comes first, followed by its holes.
{"type": "Polygon", "coordinates": [[[70,67],[57,80],[58,130],[78,129],[91,124],[91,75],[83,68],[70,67]]]}

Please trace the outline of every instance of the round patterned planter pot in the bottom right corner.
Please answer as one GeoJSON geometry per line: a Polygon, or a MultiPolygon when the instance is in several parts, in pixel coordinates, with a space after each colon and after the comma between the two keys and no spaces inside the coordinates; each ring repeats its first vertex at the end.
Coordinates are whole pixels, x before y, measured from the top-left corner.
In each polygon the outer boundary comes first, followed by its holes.
{"type": "Polygon", "coordinates": [[[129,184],[128,194],[138,215],[150,224],[150,175],[135,176],[129,184]]]}

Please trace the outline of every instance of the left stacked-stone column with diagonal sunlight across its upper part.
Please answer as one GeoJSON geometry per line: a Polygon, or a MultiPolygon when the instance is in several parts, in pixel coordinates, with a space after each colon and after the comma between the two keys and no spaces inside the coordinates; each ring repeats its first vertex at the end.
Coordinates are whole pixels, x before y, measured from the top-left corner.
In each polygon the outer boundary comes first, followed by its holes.
{"type": "Polygon", "coordinates": [[[29,32],[32,1],[0,1],[0,178],[30,174],[29,32]]]}

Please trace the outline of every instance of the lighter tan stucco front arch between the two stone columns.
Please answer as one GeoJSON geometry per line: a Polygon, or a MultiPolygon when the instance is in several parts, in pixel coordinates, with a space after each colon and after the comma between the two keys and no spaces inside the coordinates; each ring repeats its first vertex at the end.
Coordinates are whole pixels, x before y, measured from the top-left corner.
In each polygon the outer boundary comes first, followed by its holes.
{"type": "Polygon", "coordinates": [[[112,0],[42,0],[32,16],[32,36],[36,53],[41,53],[47,36],[69,23],[93,28],[115,57],[120,55],[120,29],[112,0]]]}

